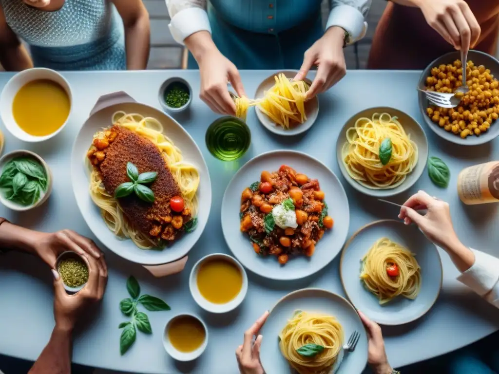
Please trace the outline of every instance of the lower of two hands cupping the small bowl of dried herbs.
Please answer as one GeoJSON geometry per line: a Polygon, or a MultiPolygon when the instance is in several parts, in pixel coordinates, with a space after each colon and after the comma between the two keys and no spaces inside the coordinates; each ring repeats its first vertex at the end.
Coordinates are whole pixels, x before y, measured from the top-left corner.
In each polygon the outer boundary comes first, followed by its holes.
{"type": "Polygon", "coordinates": [[[88,306],[104,296],[107,284],[107,267],[104,258],[95,259],[84,253],[83,260],[88,267],[88,281],[77,293],[68,295],[64,283],[56,270],[54,274],[54,319],[55,325],[63,330],[73,330],[78,317],[88,306]]]}

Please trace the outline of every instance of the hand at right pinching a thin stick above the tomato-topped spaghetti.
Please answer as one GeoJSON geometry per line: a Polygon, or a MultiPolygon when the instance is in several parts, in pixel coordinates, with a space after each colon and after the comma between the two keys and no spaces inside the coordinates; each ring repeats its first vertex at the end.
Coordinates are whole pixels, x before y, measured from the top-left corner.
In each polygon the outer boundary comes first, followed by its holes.
{"type": "Polygon", "coordinates": [[[425,191],[418,191],[404,202],[399,218],[403,219],[406,225],[416,223],[428,239],[444,249],[459,242],[452,225],[449,204],[437,200],[425,191]],[[420,209],[427,209],[428,212],[421,215],[416,211],[420,209]]]}

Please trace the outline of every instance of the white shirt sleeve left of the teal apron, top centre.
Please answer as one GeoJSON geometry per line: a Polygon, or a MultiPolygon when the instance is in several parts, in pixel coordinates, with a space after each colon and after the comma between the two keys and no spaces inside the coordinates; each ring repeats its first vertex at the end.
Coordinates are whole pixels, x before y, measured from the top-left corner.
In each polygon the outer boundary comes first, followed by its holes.
{"type": "Polygon", "coordinates": [[[166,0],[170,14],[170,32],[177,43],[184,44],[184,39],[195,32],[212,32],[206,0],[166,0]]]}

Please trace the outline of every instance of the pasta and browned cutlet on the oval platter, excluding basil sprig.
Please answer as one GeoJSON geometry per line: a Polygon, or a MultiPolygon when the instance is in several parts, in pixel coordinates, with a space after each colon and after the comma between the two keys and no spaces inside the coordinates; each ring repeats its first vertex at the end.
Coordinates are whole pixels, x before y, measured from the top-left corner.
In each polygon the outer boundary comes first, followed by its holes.
{"type": "Polygon", "coordinates": [[[116,112],[111,123],[112,127],[94,135],[87,153],[92,166],[90,195],[106,225],[141,249],[162,247],[192,231],[197,223],[196,167],[183,160],[157,119],[116,112]],[[114,197],[120,185],[133,182],[127,173],[129,163],[139,173],[157,173],[148,185],[154,202],[133,192],[114,197]]]}

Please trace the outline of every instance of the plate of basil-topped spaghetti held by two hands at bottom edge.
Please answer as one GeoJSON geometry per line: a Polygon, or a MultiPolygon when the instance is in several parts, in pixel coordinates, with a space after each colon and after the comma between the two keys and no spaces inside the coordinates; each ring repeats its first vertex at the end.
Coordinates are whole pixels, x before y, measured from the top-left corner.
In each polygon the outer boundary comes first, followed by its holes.
{"type": "Polygon", "coordinates": [[[270,310],[260,333],[265,373],[360,374],[367,363],[367,336],[357,312],[326,290],[287,294],[270,310]],[[355,351],[343,357],[342,346],[354,331],[360,332],[355,351]]]}

